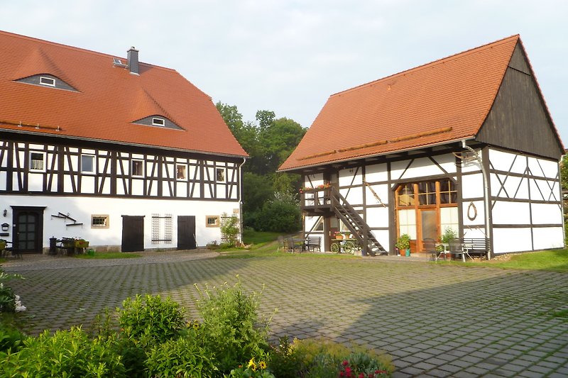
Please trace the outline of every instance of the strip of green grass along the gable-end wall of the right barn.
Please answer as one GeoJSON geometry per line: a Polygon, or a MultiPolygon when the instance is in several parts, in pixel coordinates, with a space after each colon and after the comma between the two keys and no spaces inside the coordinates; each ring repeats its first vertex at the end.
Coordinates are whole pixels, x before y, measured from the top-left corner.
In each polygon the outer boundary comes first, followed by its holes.
{"type": "Polygon", "coordinates": [[[545,270],[547,272],[568,273],[568,249],[542,250],[537,252],[525,252],[518,255],[510,255],[508,260],[502,257],[481,262],[452,261],[445,262],[452,265],[467,265],[473,267],[498,267],[501,269],[518,270],[545,270]]]}

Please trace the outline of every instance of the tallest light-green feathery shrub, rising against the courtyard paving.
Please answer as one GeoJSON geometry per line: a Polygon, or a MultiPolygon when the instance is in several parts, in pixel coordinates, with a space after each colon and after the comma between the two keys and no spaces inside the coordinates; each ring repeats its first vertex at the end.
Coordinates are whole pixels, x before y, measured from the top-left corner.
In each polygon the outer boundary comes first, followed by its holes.
{"type": "Polygon", "coordinates": [[[202,317],[199,334],[221,372],[229,373],[268,349],[268,322],[260,325],[256,313],[260,294],[247,295],[240,282],[234,287],[225,284],[222,289],[207,288],[200,294],[202,299],[197,301],[202,317]]]}

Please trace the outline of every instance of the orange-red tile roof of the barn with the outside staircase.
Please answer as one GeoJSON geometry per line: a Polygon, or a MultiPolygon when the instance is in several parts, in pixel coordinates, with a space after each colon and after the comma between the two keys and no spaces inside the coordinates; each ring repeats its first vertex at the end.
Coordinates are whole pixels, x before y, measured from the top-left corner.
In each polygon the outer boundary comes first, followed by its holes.
{"type": "Polygon", "coordinates": [[[333,94],[280,170],[474,138],[518,35],[333,94]]]}

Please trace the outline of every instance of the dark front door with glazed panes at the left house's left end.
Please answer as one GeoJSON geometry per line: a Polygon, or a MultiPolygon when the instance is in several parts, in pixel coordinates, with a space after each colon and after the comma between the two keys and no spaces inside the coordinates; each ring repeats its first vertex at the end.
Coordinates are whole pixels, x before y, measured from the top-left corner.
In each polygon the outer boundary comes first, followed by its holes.
{"type": "Polygon", "coordinates": [[[23,253],[41,253],[43,248],[43,208],[13,207],[13,248],[23,253]]]}

